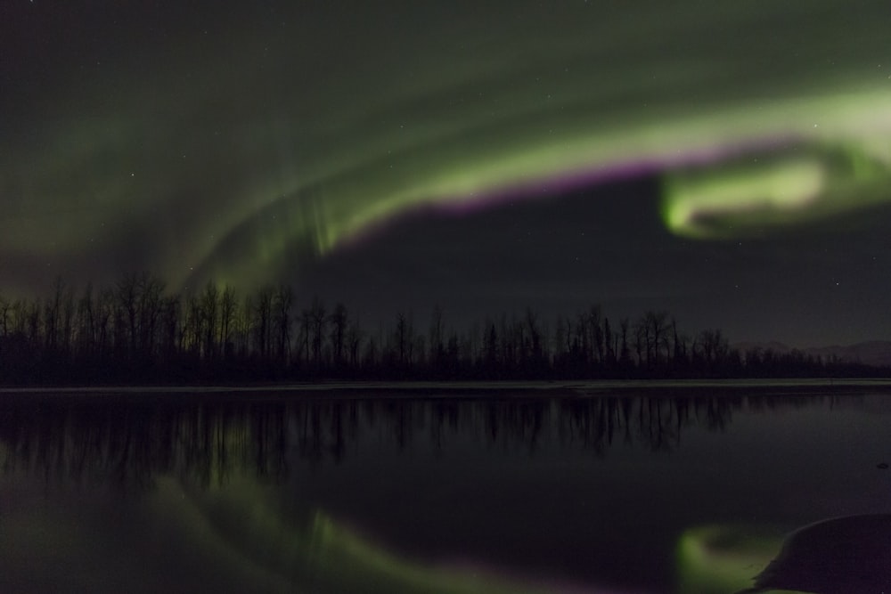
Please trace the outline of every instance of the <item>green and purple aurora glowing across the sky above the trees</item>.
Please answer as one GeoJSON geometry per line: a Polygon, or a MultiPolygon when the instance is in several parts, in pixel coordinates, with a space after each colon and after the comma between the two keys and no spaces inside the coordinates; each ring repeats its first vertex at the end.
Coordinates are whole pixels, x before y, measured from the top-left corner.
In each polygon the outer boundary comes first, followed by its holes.
{"type": "Polygon", "coordinates": [[[0,139],[0,256],[187,289],[636,175],[700,240],[891,199],[887,2],[492,4],[219,16],[64,77],[0,139]]]}

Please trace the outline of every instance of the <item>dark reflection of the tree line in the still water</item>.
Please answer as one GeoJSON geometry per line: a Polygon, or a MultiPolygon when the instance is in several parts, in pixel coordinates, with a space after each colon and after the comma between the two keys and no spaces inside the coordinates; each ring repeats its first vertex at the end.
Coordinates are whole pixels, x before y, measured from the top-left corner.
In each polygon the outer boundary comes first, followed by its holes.
{"type": "MultiPolygon", "coordinates": [[[[848,401],[850,397],[846,397],[848,401]]],[[[150,488],[158,475],[226,484],[233,476],[279,482],[290,464],[339,463],[382,436],[396,452],[441,451],[467,440],[534,454],[560,448],[606,456],[615,445],[672,452],[690,427],[721,432],[739,411],[831,406],[837,396],[611,395],[380,399],[108,396],[0,403],[0,468],[76,484],[150,488]]]]}

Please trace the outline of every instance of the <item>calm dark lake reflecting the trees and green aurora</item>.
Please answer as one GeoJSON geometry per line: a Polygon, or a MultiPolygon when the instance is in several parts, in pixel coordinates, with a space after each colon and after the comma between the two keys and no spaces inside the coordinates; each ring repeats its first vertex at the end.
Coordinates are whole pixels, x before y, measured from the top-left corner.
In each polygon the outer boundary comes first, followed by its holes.
{"type": "Polygon", "coordinates": [[[534,388],[2,391],[0,591],[729,594],[891,513],[880,383],[534,388]]]}

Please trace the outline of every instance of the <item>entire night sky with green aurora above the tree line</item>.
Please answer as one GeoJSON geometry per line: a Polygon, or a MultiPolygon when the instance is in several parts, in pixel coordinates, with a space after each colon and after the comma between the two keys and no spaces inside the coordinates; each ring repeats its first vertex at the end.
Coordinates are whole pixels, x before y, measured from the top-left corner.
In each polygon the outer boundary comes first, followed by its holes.
{"type": "Polygon", "coordinates": [[[887,0],[0,4],[0,292],[891,338],[887,0]]]}

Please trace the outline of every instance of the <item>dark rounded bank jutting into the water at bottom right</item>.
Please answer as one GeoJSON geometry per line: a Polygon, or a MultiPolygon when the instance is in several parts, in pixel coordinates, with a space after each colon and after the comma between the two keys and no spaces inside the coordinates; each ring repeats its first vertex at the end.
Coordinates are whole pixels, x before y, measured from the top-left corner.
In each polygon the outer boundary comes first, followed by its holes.
{"type": "Polygon", "coordinates": [[[848,516],[789,535],[780,555],[743,592],[891,592],[891,514],[848,516]]]}

